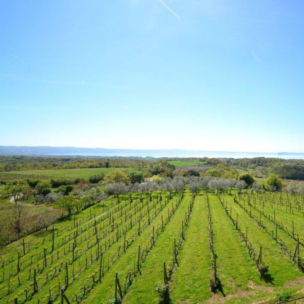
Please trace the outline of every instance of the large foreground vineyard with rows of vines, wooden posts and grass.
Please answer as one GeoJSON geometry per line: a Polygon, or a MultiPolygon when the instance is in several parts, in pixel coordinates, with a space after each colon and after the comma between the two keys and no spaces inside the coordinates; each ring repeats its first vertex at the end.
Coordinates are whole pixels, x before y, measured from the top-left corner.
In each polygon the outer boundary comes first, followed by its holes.
{"type": "Polygon", "coordinates": [[[304,296],[304,199],[109,197],[1,251],[1,303],[252,303],[304,296]],[[298,293],[297,293],[298,292],[298,293]]]}

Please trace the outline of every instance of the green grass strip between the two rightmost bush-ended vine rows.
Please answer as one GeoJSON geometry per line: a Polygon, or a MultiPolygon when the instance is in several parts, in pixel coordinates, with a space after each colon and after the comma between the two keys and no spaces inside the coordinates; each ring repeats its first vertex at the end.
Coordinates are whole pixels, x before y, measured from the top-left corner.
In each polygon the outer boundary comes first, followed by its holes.
{"type": "Polygon", "coordinates": [[[209,194],[211,220],[214,233],[214,250],[218,256],[217,276],[225,295],[248,290],[249,280],[259,282],[259,273],[247,249],[214,194],[209,194]]]}

